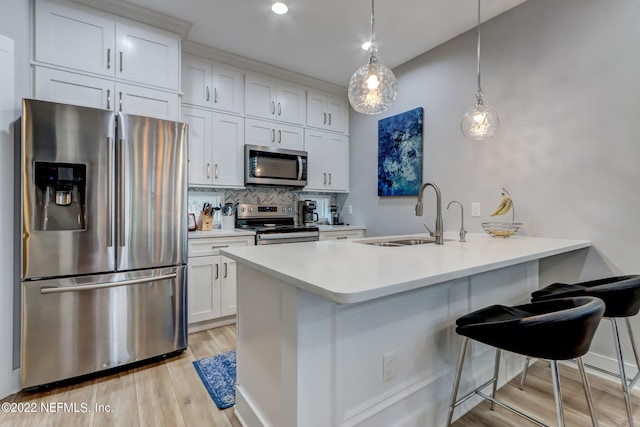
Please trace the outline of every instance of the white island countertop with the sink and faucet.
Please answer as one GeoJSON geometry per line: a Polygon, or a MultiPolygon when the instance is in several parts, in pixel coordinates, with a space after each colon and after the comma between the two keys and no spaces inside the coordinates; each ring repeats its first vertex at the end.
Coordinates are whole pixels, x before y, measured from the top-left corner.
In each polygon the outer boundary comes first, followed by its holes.
{"type": "Polygon", "coordinates": [[[351,304],[591,246],[587,240],[486,234],[468,234],[464,243],[457,241],[457,233],[445,238],[455,240],[405,247],[357,243],[380,239],[374,237],[225,248],[221,253],[330,301],[351,304]]]}

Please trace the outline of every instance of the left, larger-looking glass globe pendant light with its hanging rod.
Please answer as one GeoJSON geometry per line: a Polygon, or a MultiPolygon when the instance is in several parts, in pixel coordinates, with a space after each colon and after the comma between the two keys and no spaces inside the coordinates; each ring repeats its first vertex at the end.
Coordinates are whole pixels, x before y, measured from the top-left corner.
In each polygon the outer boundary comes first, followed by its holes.
{"type": "Polygon", "coordinates": [[[349,81],[349,103],[358,113],[387,111],[398,97],[398,82],[389,67],[378,63],[378,43],[374,31],[375,15],[371,0],[371,44],[369,63],[358,68],[349,81]]]}

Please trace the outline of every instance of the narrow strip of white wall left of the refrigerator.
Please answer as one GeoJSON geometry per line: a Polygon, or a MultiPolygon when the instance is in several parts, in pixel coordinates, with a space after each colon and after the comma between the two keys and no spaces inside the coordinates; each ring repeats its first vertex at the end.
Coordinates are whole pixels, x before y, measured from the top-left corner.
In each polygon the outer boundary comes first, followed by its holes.
{"type": "MultiPolygon", "coordinates": [[[[13,370],[14,329],[13,295],[16,289],[14,268],[19,263],[14,253],[13,203],[14,199],[14,132],[12,123],[20,117],[21,99],[31,94],[30,78],[30,2],[8,0],[3,2],[0,14],[1,35],[13,40],[12,80],[2,74],[0,89],[0,200],[5,201],[0,212],[0,398],[18,390],[18,371],[13,370]],[[6,85],[6,86],[5,86],[6,85]]],[[[19,226],[19,224],[17,225],[19,226]]],[[[18,279],[19,281],[19,279],[18,279]]]]}

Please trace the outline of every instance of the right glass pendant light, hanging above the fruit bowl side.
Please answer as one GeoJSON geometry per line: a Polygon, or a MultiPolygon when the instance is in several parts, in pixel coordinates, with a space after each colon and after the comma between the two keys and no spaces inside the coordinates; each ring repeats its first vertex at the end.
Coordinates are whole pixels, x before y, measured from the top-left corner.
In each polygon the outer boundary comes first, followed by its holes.
{"type": "Polygon", "coordinates": [[[476,105],[462,116],[460,129],[469,139],[480,141],[496,134],[500,119],[498,113],[491,107],[484,105],[482,88],[480,87],[480,0],[478,0],[478,89],[476,91],[476,105]]]}

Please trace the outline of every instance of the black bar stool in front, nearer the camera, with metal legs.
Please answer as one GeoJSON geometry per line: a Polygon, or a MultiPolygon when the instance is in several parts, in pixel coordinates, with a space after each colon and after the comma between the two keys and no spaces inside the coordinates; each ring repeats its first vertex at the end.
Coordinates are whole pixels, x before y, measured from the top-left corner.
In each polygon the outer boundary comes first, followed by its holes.
{"type": "Polygon", "coordinates": [[[557,361],[577,359],[591,422],[593,426],[597,426],[598,421],[593,409],[589,382],[581,356],[589,351],[591,340],[598,328],[600,319],[602,319],[604,310],[605,305],[602,300],[594,297],[579,297],[555,299],[515,307],[492,305],[460,317],[456,321],[456,332],[463,336],[462,348],[460,349],[458,369],[454,380],[453,392],[451,393],[447,426],[451,425],[453,411],[456,406],[474,395],[491,401],[492,410],[494,409],[494,404],[497,404],[534,424],[546,426],[541,421],[523,413],[520,409],[495,398],[502,350],[551,361],[558,426],[564,426],[564,413],[557,361]],[[493,378],[458,399],[462,365],[464,364],[469,339],[496,348],[493,378]],[[493,386],[491,395],[482,392],[489,385],[493,386]]]}

